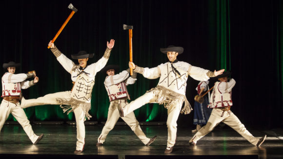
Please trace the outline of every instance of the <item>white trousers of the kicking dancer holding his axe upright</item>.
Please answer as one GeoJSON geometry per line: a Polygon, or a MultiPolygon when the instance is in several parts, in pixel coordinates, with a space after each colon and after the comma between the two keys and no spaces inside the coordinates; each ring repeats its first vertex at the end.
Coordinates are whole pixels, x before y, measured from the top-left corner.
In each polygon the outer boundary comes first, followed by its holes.
{"type": "MultiPolygon", "coordinates": [[[[142,107],[147,103],[155,103],[156,99],[158,99],[158,94],[160,91],[154,90],[151,92],[146,92],[141,97],[133,100],[129,104],[125,105],[123,108],[124,117],[126,117],[129,113],[134,110],[142,107]]],[[[167,128],[168,128],[168,139],[167,139],[167,147],[173,147],[176,142],[177,137],[177,120],[182,108],[183,101],[175,100],[170,108],[167,109],[167,128]]]]}

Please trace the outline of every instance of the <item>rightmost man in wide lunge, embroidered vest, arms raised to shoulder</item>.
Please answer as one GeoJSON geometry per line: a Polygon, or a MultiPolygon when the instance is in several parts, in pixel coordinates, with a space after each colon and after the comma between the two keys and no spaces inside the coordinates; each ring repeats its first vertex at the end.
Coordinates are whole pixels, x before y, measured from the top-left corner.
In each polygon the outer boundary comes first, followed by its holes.
{"type": "Polygon", "coordinates": [[[207,121],[207,124],[203,126],[192,139],[189,140],[191,145],[196,145],[197,141],[211,132],[215,126],[221,121],[236,130],[245,139],[255,146],[260,146],[266,138],[266,135],[258,139],[246,130],[241,121],[232,113],[230,107],[232,103],[232,88],[235,86],[236,81],[231,79],[227,80],[231,74],[230,71],[223,72],[222,75],[218,75],[219,81],[215,82],[213,92],[211,94],[209,107],[212,108],[211,115],[207,121]]]}

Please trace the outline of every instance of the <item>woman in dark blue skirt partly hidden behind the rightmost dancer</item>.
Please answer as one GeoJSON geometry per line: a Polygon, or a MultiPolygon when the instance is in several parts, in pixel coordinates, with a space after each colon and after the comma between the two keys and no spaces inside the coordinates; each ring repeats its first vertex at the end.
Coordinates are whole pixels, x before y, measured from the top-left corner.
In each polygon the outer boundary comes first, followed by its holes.
{"type": "MultiPolygon", "coordinates": [[[[209,83],[208,80],[199,82],[196,88],[198,95],[200,95],[200,92],[202,89],[203,90],[202,90],[201,95],[205,93],[207,90],[209,90],[208,83],[209,83]]],[[[207,108],[209,104],[209,99],[207,97],[209,97],[209,95],[210,93],[208,92],[208,95],[203,96],[202,103],[195,101],[193,124],[197,125],[197,128],[195,130],[192,130],[192,133],[196,133],[199,129],[201,129],[201,127],[205,125],[207,123],[207,120],[209,119],[209,116],[211,114],[211,109],[207,108]]]]}

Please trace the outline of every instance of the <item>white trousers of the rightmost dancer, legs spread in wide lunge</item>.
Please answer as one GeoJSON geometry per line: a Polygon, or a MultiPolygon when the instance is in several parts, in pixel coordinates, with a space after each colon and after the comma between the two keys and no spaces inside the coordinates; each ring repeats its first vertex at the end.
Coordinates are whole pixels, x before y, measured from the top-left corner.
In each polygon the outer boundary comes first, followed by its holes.
{"type": "Polygon", "coordinates": [[[245,139],[247,139],[251,144],[256,145],[259,141],[259,138],[255,138],[249,131],[246,130],[244,125],[241,123],[241,121],[234,115],[234,113],[229,111],[223,111],[221,109],[213,108],[211,115],[207,121],[207,124],[203,126],[194,136],[192,139],[190,139],[189,142],[195,142],[202,137],[204,137],[206,134],[211,132],[215,126],[217,126],[220,122],[224,122],[226,125],[233,128],[235,131],[237,131],[240,135],[242,135],[245,139]],[[222,116],[223,115],[223,116],[222,116]]]}

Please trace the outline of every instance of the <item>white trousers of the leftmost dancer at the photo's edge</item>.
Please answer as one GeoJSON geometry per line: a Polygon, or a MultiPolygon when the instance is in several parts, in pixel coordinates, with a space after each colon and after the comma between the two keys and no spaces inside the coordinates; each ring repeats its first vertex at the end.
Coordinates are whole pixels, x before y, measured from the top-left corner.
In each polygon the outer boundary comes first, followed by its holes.
{"type": "Polygon", "coordinates": [[[35,143],[39,136],[35,135],[35,133],[33,132],[29,120],[25,115],[25,112],[22,108],[20,108],[19,102],[15,104],[5,99],[2,100],[0,105],[0,131],[10,114],[12,114],[17,119],[32,143],[35,143]]]}

